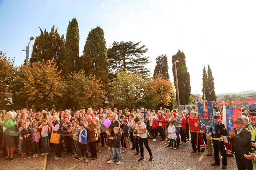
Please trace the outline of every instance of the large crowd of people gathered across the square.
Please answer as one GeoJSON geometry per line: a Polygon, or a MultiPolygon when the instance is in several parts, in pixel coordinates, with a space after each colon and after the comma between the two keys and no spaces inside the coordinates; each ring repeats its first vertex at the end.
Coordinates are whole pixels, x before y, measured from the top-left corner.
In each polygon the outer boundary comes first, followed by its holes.
{"type": "MultiPolygon", "coordinates": [[[[148,140],[156,139],[169,141],[166,148],[179,149],[191,140],[191,153],[201,154],[207,148],[206,156],[212,156],[214,150],[215,162],[220,165],[219,152],[222,156],[222,169],[227,168],[227,156],[235,154],[238,169],[252,169],[255,159],[255,118],[245,110],[238,118],[236,128],[229,134],[222,124],[222,109],[214,111],[215,133],[205,135],[189,130],[188,117],[198,117],[196,108],[189,111],[174,109],[150,110],[129,109],[117,111],[116,108],[94,110],[88,108],[73,112],[71,109],[56,111],[54,108],[34,112],[32,109],[12,110],[0,114],[0,149],[4,160],[12,160],[15,153],[27,159],[48,155],[55,151],[55,160],[62,159],[62,155],[72,155],[73,159],[84,161],[97,159],[102,147],[107,148],[109,159],[107,163],[123,164],[122,154],[139,155],[138,161],[144,159],[144,149],[149,153],[148,161],[154,160],[148,140]],[[104,121],[109,119],[110,126],[104,121]],[[249,133],[248,133],[249,132],[249,133]],[[58,133],[58,143],[51,143],[52,133],[58,133]],[[189,135],[190,134],[190,135],[189,135]],[[160,137],[161,138],[157,138],[160,137]],[[191,136],[191,138],[190,138],[191,136]],[[228,144],[224,143],[227,136],[228,144]],[[252,143],[252,144],[251,144],[252,143]],[[229,149],[232,147],[232,149],[229,149]],[[231,150],[231,152],[229,151],[231,150]],[[42,153],[43,152],[43,153],[42,153]],[[90,156],[89,156],[90,153],[90,156]]],[[[256,167],[256,166],[255,166],[256,167]]]]}

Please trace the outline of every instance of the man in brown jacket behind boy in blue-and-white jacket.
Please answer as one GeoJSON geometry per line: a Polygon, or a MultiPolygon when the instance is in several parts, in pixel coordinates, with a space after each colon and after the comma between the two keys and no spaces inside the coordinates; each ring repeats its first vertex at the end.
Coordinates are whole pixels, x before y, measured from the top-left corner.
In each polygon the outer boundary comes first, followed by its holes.
{"type": "Polygon", "coordinates": [[[88,115],[86,117],[88,122],[88,127],[84,127],[87,130],[87,138],[88,144],[91,152],[92,160],[97,159],[97,152],[96,152],[96,141],[98,140],[98,133],[97,133],[97,124],[92,120],[92,116],[88,115]]]}

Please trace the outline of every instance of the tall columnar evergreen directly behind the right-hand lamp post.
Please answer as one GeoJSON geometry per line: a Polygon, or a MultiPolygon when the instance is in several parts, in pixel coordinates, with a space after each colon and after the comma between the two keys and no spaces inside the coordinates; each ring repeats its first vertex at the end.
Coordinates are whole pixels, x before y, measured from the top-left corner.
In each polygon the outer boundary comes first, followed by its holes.
{"type": "MultiPolygon", "coordinates": [[[[172,55],[172,73],[174,77],[174,84],[176,85],[176,78],[175,78],[175,67],[174,62],[178,60],[179,62],[176,63],[177,66],[177,78],[178,78],[178,85],[179,85],[179,97],[180,97],[180,104],[186,105],[189,102],[191,87],[190,87],[190,76],[188,73],[188,69],[186,67],[186,56],[180,50],[177,54],[172,55]]],[[[177,92],[176,92],[177,96],[177,92]]]]}

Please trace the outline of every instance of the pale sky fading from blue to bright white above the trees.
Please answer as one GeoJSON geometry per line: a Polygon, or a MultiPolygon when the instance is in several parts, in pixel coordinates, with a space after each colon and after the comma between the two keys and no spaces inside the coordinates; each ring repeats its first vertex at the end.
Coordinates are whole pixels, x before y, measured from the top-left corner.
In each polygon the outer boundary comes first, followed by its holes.
{"type": "MultiPolygon", "coordinates": [[[[15,57],[19,66],[26,58],[29,38],[55,25],[66,36],[68,22],[79,26],[80,55],[89,31],[100,26],[107,48],[113,41],[145,44],[153,73],[156,57],[168,56],[173,81],[172,55],[186,56],[191,93],[201,94],[203,67],[212,69],[215,92],[256,90],[256,1],[161,1],[161,0],[0,0],[0,50],[15,57]]],[[[29,45],[29,56],[32,45],[29,45]]]]}

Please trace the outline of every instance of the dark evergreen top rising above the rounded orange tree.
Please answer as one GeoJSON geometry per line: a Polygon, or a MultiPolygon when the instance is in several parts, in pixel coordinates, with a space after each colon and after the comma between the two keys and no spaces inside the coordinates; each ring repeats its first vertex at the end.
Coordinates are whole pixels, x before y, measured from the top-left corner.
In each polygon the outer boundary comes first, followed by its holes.
{"type": "Polygon", "coordinates": [[[161,78],[163,78],[165,80],[168,80],[170,78],[168,70],[169,70],[169,66],[168,66],[168,63],[167,63],[166,54],[165,55],[162,54],[161,56],[160,55],[157,56],[157,58],[156,58],[156,67],[155,67],[153,76],[156,77],[157,75],[159,75],[161,78]]]}

